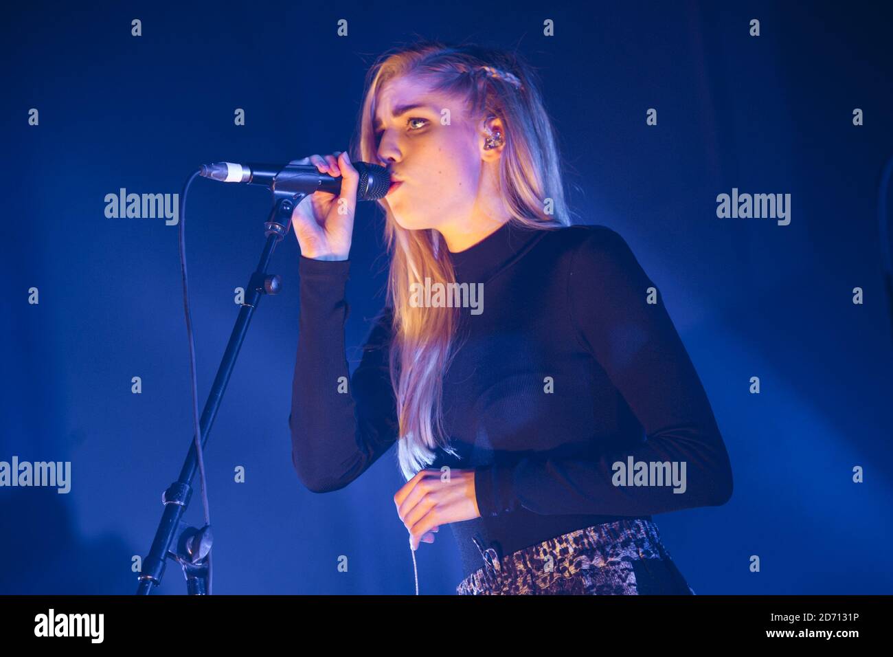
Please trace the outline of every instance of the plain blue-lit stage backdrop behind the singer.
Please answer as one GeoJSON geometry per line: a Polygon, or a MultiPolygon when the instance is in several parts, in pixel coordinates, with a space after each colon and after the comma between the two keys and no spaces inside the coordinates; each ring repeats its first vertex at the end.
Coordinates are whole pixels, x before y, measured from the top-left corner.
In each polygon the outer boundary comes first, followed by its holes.
{"type": "MultiPolygon", "coordinates": [[[[203,163],[345,149],[368,66],[417,36],[517,48],[538,67],[579,223],[620,232],[660,286],[734,472],[725,506],[655,517],[696,593],[893,593],[893,353],[876,215],[893,155],[889,12],[819,2],[373,6],[7,10],[0,460],[70,460],[72,476],[68,494],[0,488],[0,594],[134,591],[131,560],[148,551],[188,448],[177,227],[106,218],[104,196],[179,193],[203,163]],[[130,35],[134,18],[141,37],[130,35]],[[554,37],[543,36],[546,19],[554,37]],[[234,125],[237,107],[245,126],[234,125]],[[790,224],[717,218],[716,196],[732,188],[790,193],[790,224]],[[141,394],[130,392],[133,376],[141,394]],[[748,392],[751,376],[760,394],[748,392]]],[[[201,406],[268,207],[262,189],[199,180],[190,191],[201,406]]],[[[381,231],[380,211],[362,204],[352,366],[384,303],[381,231]]],[[[292,467],[298,253],[289,233],[271,265],[284,291],[255,314],[205,451],[214,592],[411,594],[396,451],[336,493],[308,492],[292,467]],[[237,466],[245,483],[233,481],[237,466]]],[[[197,479],[188,519],[201,524],[197,479]]],[[[416,556],[421,594],[455,593],[449,530],[416,556]]],[[[169,563],[158,593],[183,591],[169,563]]]]}

